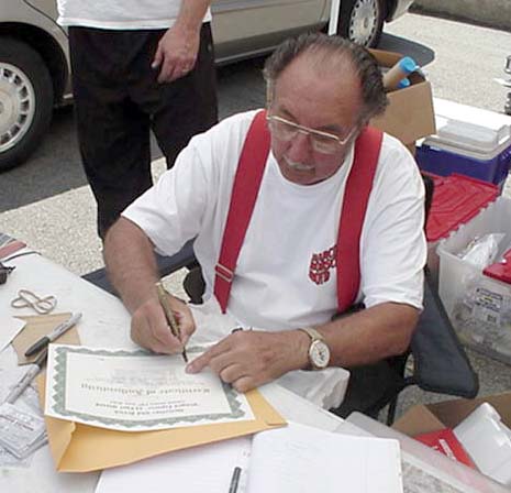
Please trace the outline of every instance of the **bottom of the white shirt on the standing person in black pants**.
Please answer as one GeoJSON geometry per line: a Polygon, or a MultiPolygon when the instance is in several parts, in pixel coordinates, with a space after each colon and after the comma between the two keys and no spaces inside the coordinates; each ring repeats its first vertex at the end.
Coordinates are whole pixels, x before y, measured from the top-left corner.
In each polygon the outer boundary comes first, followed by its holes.
{"type": "MultiPolygon", "coordinates": [[[[168,29],[182,0],[57,0],[60,25],[111,30],[168,29]]],[[[203,22],[211,21],[211,11],[203,22]]]]}

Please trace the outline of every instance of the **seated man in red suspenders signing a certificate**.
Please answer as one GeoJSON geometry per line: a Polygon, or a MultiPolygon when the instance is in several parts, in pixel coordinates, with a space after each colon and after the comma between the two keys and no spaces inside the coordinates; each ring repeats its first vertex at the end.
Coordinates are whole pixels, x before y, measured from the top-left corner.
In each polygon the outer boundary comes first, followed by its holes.
{"type": "Polygon", "coordinates": [[[187,305],[170,296],[182,340],[171,336],[158,304],[153,251],[170,255],[197,238],[205,296],[216,296],[254,330],[225,333],[187,371],[209,366],[241,392],[293,370],[362,365],[403,352],[422,308],[426,256],[423,183],[412,156],[389,135],[380,147],[364,140],[368,121],[387,106],[373,56],[346,40],[307,34],[277,48],[265,77],[267,113],[254,130],[257,138],[269,130],[260,178],[251,175],[234,186],[238,168],[236,183],[257,167],[264,139],[245,149],[244,167],[241,154],[260,113],[227,118],[193,138],[176,166],[127,207],[104,250],[111,280],[132,314],[132,339],[176,353],[195,322],[187,305]],[[364,175],[371,167],[369,146],[376,150],[375,171],[357,182],[368,183],[357,232],[357,219],[344,209],[360,201],[364,187],[346,184],[355,171],[364,175]],[[253,210],[242,211],[251,194],[253,210]],[[247,223],[231,224],[224,235],[230,207],[234,222],[247,223]],[[341,217],[347,227],[340,226],[341,217]],[[222,244],[240,229],[246,232],[238,255],[222,265],[222,244]],[[353,293],[343,295],[343,305],[337,295],[344,285],[353,293]],[[366,309],[333,319],[355,302],[366,309]]]}

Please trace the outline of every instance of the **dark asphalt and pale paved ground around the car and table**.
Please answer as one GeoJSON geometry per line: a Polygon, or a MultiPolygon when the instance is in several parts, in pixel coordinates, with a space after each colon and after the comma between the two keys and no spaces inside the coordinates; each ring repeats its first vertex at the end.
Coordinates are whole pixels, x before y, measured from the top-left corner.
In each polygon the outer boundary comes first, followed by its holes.
{"type": "MultiPolygon", "coordinates": [[[[507,91],[493,78],[503,77],[510,46],[509,32],[409,13],[387,26],[379,47],[413,56],[424,67],[434,96],[502,112],[507,91]]],[[[258,58],[219,70],[221,118],[264,106],[263,62],[258,58]]],[[[156,177],[164,171],[156,146],[154,157],[156,177]]],[[[506,194],[511,196],[510,191],[508,184],[506,194]]],[[[23,239],[82,275],[102,265],[95,215],[80,165],[73,108],[64,108],[56,111],[48,136],[30,162],[0,175],[0,231],[23,239]]],[[[182,273],[170,280],[178,294],[181,280],[182,273]]],[[[475,353],[470,359],[481,379],[481,395],[511,390],[510,366],[475,353]]],[[[398,413],[414,403],[445,398],[406,391],[398,413]]]]}

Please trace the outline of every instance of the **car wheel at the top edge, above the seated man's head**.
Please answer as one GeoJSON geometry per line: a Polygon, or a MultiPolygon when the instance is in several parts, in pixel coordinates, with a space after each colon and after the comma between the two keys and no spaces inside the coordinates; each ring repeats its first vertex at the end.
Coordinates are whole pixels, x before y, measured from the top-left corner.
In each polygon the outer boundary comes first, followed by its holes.
{"type": "Polygon", "coordinates": [[[384,29],[382,0],[342,0],[337,34],[366,47],[378,45],[384,29]]]}

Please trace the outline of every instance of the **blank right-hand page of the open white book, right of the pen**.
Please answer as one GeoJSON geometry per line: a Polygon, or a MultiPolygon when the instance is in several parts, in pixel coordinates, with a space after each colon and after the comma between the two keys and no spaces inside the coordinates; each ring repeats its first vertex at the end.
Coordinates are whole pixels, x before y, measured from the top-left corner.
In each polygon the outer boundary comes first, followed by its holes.
{"type": "Polygon", "coordinates": [[[402,492],[399,442],[298,424],[262,431],[253,439],[247,492],[402,492]]]}

